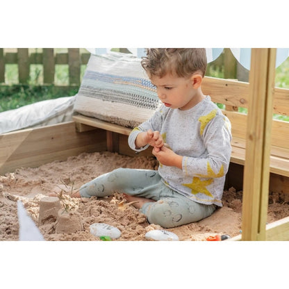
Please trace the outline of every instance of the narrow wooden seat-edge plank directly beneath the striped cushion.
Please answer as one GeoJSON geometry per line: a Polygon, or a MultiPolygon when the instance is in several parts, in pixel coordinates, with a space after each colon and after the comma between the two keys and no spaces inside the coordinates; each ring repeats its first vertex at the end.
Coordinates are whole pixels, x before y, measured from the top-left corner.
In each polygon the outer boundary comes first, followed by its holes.
{"type": "Polygon", "coordinates": [[[95,126],[99,129],[106,129],[107,131],[113,131],[123,135],[129,135],[132,131],[132,129],[127,127],[119,126],[118,124],[111,124],[110,122],[104,122],[93,117],[85,117],[84,115],[74,115],[72,119],[74,122],[81,122],[82,124],[87,124],[88,126],[95,126]]]}

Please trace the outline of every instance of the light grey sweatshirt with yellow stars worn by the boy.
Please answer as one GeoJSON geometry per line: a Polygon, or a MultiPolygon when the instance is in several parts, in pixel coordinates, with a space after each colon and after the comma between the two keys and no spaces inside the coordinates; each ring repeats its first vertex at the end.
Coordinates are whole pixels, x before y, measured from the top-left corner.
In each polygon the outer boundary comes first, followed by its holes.
{"type": "Polygon", "coordinates": [[[142,131],[160,131],[164,141],[183,156],[182,170],[160,164],[163,183],[181,195],[201,204],[222,206],[226,172],[231,157],[231,123],[206,97],[189,110],[164,105],[151,119],[133,129],[129,146],[135,151],[135,138],[142,131]]]}

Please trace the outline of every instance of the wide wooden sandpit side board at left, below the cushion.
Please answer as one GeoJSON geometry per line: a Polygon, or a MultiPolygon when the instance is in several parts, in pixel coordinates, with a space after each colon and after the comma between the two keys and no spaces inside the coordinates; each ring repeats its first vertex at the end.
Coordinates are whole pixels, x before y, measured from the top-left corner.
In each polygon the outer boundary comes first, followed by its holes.
{"type": "Polygon", "coordinates": [[[104,150],[105,131],[77,133],[74,122],[3,133],[0,135],[0,174],[104,150]]]}

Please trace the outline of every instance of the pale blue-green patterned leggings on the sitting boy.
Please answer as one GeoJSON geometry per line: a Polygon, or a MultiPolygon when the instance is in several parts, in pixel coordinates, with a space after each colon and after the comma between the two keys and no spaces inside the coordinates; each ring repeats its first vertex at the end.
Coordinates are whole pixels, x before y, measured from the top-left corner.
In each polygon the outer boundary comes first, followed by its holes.
{"type": "Polygon", "coordinates": [[[155,170],[119,168],[102,174],[79,189],[81,197],[105,197],[114,192],[152,199],[140,212],[150,224],[173,228],[212,215],[215,205],[199,204],[168,188],[155,170]]]}

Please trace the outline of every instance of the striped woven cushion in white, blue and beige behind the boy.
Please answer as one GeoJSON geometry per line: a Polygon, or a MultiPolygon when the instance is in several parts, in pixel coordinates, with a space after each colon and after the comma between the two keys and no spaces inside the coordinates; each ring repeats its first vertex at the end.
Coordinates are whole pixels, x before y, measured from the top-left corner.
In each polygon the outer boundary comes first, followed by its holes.
{"type": "Polygon", "coordinates": [[[159,105],[140,58],[110,52],[90,56],[74,112],[133,128],[149,119],[159,105]]]}

